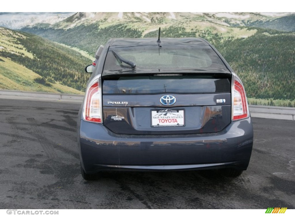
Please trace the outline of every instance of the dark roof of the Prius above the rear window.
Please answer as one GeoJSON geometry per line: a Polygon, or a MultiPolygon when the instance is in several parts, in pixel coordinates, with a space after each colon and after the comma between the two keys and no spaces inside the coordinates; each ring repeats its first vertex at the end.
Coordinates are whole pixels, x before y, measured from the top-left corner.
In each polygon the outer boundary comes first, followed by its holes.
{"type": "Polygon", "coordinates": [[[157,42],[157,38],[113,38],[110,47],[128,46],[128,45],[155,45],[155,44],[171,44],[171,45],[206,45],[209,44],[202,38],[160,38],[161,42],[157,42]]]}

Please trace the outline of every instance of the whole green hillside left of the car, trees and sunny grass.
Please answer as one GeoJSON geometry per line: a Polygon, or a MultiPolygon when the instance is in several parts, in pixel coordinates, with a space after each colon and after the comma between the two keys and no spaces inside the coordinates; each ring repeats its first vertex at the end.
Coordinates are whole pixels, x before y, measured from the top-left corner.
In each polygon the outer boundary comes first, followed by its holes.
{"type": "Polygon", "coordinates": [[[61,93],[85,90],[90,75],[84,68],[92,61],[79,52],[33,34],[2,27],[0,46],[3,79],[0,88],[61,93]]]}

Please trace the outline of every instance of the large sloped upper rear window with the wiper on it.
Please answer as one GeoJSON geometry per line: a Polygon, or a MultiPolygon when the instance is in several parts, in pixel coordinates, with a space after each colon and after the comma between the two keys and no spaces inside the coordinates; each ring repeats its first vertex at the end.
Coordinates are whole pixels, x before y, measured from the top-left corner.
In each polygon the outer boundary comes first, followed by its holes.
{"type": "Polygon", "coordinates": [[[104,70],[122,70],[130,68],[125,63],[120,63],[113,52],[122,58],[135,63],[136,68],[185,68],[185,69],[224,69],[222,60],[209,46],[128,46],[110,47],[104,64],[104,70]]]}

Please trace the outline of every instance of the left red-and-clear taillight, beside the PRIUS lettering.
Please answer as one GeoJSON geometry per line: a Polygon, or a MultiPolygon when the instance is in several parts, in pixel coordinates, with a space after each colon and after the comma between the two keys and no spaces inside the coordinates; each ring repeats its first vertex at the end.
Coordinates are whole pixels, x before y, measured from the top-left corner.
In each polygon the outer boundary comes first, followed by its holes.
{"type": "Polygon", "coordinates": [[[86,121],[102,123],[101,115],[101,90],[99,82],[96,82],[87,90],[83,118],[86,121]]]}

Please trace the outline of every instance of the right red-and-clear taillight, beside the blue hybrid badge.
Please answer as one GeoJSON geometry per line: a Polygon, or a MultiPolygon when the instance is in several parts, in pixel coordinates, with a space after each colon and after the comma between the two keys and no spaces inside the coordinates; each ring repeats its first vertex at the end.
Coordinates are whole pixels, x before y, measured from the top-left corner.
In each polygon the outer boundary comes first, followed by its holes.
{"type": "Polygon", "coordinates": [[[232,120],[240,120],[249,117],[245,89],[237,77],[234,79],[232,97],[232,120]]]}

